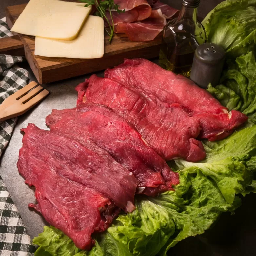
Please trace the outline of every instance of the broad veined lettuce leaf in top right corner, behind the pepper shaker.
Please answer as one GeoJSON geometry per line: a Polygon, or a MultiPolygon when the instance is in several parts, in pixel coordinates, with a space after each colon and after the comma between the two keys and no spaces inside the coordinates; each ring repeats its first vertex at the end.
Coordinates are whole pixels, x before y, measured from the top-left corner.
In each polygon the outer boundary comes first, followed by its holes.
{"type": "Polygon", "coordinates": [[[221,45],[228,56],[253,50],[256,31],[256,0],[227,0],[203,20],[208,42],[221,45]],[[245,49],[244,49],[245,48],[245,49]]]}

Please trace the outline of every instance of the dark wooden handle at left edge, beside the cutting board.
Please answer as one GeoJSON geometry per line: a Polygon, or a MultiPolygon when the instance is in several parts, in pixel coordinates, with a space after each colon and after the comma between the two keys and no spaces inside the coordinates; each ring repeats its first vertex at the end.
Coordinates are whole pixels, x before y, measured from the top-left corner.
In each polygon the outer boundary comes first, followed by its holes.
{"type": "Polygon", "coordinates": [[[24,56],[24,45],[18,35],[0,39],[0,54],[24,56]]]}

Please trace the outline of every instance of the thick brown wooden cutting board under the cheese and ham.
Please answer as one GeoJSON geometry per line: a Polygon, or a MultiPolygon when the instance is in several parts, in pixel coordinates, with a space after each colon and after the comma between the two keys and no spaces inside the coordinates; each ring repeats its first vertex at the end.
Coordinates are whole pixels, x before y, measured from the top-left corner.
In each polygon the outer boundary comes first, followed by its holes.
{"type": "MultiPolygon", "coordinates": [[[[6,8],[6,20],[11,28],[26,4],[6,8]]],[[[131,42],[125,34],[116,34],[109,44],[105,35],[104,56],[99,59],[49,58],[34,55],[35,38],[19,34],[26,59],[40,84],[104,70],[123,62],[124,58],[155,58],[158,57],[161,35],[149,42],[131,42]]]]}

